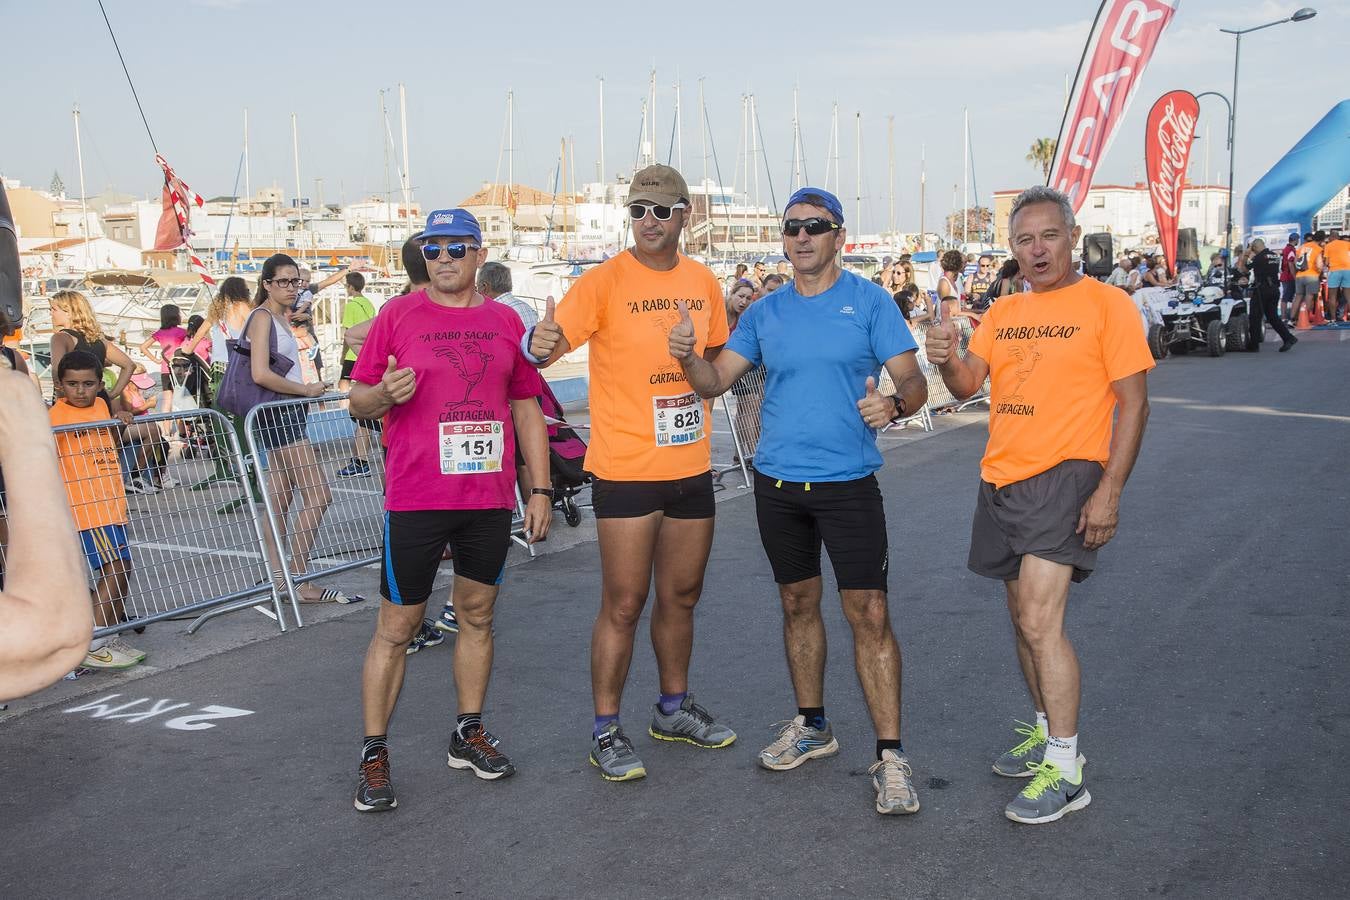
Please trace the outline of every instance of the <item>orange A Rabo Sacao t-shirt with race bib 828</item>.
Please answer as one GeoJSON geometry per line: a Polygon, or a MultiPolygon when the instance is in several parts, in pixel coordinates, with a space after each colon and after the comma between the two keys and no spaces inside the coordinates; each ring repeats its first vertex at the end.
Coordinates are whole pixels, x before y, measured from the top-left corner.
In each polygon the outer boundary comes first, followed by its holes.
{"type": "Polygon", "coordinates": [[[713,271],[683,254],[655,271],[624,251],[589,270],[558,305],[571,347],[590,341],[586,470],[616,482],[672,482],[711,468],[709,403],[684,379],[667,336],[683,300],[694,352],[726,343],[726,304],[713,271]]]}

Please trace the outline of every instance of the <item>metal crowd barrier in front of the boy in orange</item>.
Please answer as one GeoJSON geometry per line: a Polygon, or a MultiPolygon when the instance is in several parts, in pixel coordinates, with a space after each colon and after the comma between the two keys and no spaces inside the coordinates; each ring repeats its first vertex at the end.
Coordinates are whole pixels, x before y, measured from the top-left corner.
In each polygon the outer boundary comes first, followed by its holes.
{"type": "MultiPolygon", "coordinates": [[[[96,627],[96,637],[247,606],[286,629],[259,552],[263,522],[248,502],[239,441],[224,416],[198,409],[140,416],[126,429],[109,420],[53,432],[68,494],[82,507],[77,515],[120,524],[126,498],[128,618],[96,627]]],[[[94,545],[105,560],[120,556],[107,536],[94,545]]],[[[97,584],[104,568],[85,564],[97,584]]]]}

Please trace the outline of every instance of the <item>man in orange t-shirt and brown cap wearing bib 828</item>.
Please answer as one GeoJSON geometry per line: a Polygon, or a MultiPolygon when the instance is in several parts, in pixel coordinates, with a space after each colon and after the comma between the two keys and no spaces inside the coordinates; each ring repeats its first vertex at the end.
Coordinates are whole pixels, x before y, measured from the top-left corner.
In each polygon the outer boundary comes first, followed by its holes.
{"type": "Polygon", "coordinates": [[[601,555],[601,609],[591,634],[595,723],[590,761],[609,781],[647,769],[620,727],[633,636],[655,578],[652,648],[660,696],[648,733],[663,741],[725,748],[736,733],[688,692],[694,606],[713,545],[707,407],[670,355],[668,335],[688,309],[695,351],[726,343],[726,306],[710,269],[679,252],[688,185],[670,166],[648,166],[629,189],[633,246],[591,269],[522,341],[548,366],[590,343],[591,434],[586,470],[601,555]]]}

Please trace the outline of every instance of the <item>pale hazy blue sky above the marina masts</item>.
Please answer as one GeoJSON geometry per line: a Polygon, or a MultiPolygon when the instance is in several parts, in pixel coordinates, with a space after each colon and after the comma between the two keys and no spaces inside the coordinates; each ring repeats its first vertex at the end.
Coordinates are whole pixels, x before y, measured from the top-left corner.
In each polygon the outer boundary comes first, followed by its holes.
{"type": "MultiPolygon", "coordinates": [[[[1310,22],[1243,38],[1239,208],[1246,188],[1347,96],[1330,78],[1322,89],[1301,84],[1310,69],[1316,78],[1319,65],[1332,74],[1350,34],[1350,3],[1314,5],[1318,16],[1310,22]]],[[[455,205],[482,184],[506,179],[508,90],[514,94],[516,181],[551,189],[564,138],[575,147],[568,163],[575,179],[595,179],[601,78],[605,169],[610,177],[628,173],[655,69],[657,158],[664,162],[670,154],[679,162],[682,148],[690,182],[706,165],[709,177],[748,185],[765,205],[776,198],[780,206],[792,181],[794,86],[805,173],[817,185],[826,178],[837,103],[836,193],[855,233],[890,224],[890,116],[895,225],[902,231],[919,224],[921,158],[929,229],[960,206],[964,109],[972,205],[991,205],[994,190],[1038,182],[1040,170],[1026,154],[1033,140],[1058,132],[1065,81],[1077,67],[1096,7],[1092,0],[965,0],[950,8],[783,0],[664,4],[653,13],[652,4],[516,0],[501,7],[401,4],[406,12],[396,16],[352,0],[104,0],[159,151],[207,197],[243,193],[244,109],[254,192],[279,185],[296,196],[296,113],[302,196],[319,200],[321,190],[328,204],[382,196],[387,138],[381,90],[387,92],[387,121],[401,155],[400,82],[408,99],[413,196],[424,209],[455,205]],[[672,148],[676,82],[682,128],[672,148]],[[763,134],[748,178],[747,94],[755,96],[763,134]]],[[[1273,0],[1180,0],[1096,181],[1142,179],[1145,117],[1166,90],[1231,92],[1234,39],[1219,27],[1262,24],[1296,8],[1273,0]]],[[[0,173],[47,188],[58,171],[77,196],[72,108],[78,104],[86,193],[115,188],[154,196],[154,151],[99,4],[0,0],[0,20],[7,70],[22,73],[11,82],[18,103],[7,104],[12,119],[0,140],[0,173]]],[[[1222,101],[1202,100],[1193,181],[1227,178],[1224,128],[1222,101]]],[[[397,190],[397,161],[390,170],[397,190]]],[[[830,171],[834,189],[833,166],[830,171]]]]}

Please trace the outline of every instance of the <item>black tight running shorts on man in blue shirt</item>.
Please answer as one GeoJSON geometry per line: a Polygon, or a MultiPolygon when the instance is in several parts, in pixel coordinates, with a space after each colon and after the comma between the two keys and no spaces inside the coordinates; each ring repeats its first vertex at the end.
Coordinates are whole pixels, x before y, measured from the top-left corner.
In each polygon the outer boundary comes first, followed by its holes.
{"type": "Polygon", "coordinates": [[[841,591],[886,591],[886,509],[876,476],[852,482],[780,482],[755,474],[760,542],[779,584],[819,576],[821,542],[841,591]]]}

